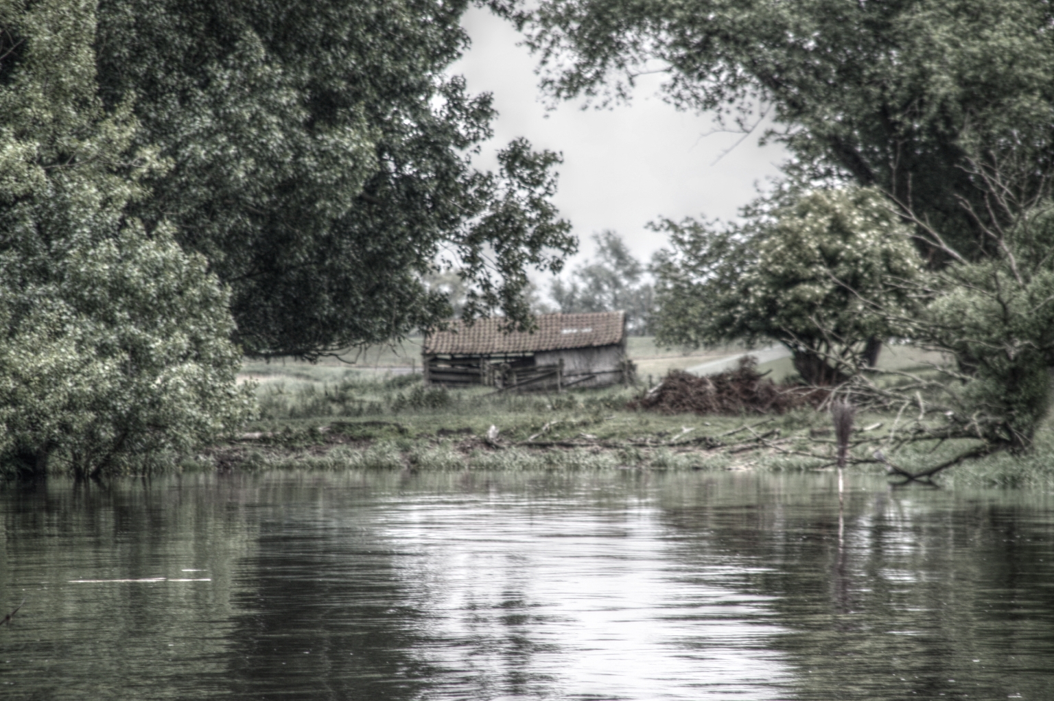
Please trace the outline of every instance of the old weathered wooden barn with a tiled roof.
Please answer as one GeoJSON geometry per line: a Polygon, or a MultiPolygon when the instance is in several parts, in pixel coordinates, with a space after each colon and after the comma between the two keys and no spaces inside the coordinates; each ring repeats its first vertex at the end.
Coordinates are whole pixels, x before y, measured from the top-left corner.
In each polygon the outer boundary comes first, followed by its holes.
{"type": "Polygon", "coordinates": [[[430,385],[560,391],[632,382],[626,357],[626,315],[540,314],[533,333],[505,333],[503,319],[457,320],[425,338],[423,366],[430,385]]]}

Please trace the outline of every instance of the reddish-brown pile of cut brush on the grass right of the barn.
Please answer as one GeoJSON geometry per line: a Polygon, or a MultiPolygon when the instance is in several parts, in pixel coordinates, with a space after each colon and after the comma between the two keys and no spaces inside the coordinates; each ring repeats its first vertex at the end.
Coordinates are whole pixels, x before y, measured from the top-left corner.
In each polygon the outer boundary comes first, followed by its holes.
{"type": "Polygon", "coordinates": [[[698,377],[674,370],[658,387],[627,407],[665,414],[782,414],[823,401],[822,390],[777,386],[758,372],[757,365],[758,358],[747,355],[740,359],[739,367],[716,375],[698,377]]]}

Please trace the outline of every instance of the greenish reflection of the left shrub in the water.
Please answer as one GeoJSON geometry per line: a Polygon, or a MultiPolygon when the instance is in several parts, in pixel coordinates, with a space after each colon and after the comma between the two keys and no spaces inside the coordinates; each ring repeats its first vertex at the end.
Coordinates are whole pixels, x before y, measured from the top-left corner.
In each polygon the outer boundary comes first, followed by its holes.
{"type": "Polygon", "coordinates": [[[51,479],[3,496],[0,601],[26,600],[3,629],[5,700],[186,699],[222,685],[227,568],[252,529],[236,489],[51,479]],[[182,568],[211,581],[71,583],[182,568]]]}

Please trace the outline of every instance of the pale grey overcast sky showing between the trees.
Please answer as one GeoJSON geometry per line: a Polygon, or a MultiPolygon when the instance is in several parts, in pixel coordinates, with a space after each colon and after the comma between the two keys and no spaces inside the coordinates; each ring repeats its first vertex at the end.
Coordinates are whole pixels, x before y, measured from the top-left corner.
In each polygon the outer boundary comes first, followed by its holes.
{"type": "Polygon", "coordinates": [[[629,105],[583,111],[568,102],[547,112],[534,60],[516,45],[512,26],[474,7],[462,24],[472,47],[451,73],[464,75],[473,93],[492,93],[500,113],[480,165],[493,169],[496,150],[519,136],[564,154],[555,203],[582,240],[569,268],[592,254],[589,236],[604,229],[618,231],[646,260],[665,245],[664,236],[644,228],[648,221],[736,216],[755,196],[755,183],[764,184],[783,160],[780,147],[760,148],[756,135],[718,160],[740,135],[706,135],[710,118],[663,102],[658,79],[642,81],[629,105]]]}

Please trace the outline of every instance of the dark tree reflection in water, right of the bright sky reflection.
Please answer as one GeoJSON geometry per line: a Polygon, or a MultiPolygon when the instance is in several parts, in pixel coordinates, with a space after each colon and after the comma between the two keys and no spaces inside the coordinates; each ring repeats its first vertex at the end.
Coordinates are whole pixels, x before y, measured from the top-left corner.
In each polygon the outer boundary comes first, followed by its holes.
{"type": "Polygon", "coordinates": [[[796,699],[1054,698],[1049,506],[847,492],[839,539],[837,493],[798,482],[662,499],[700,577],[772,598],[796,699]]]}

